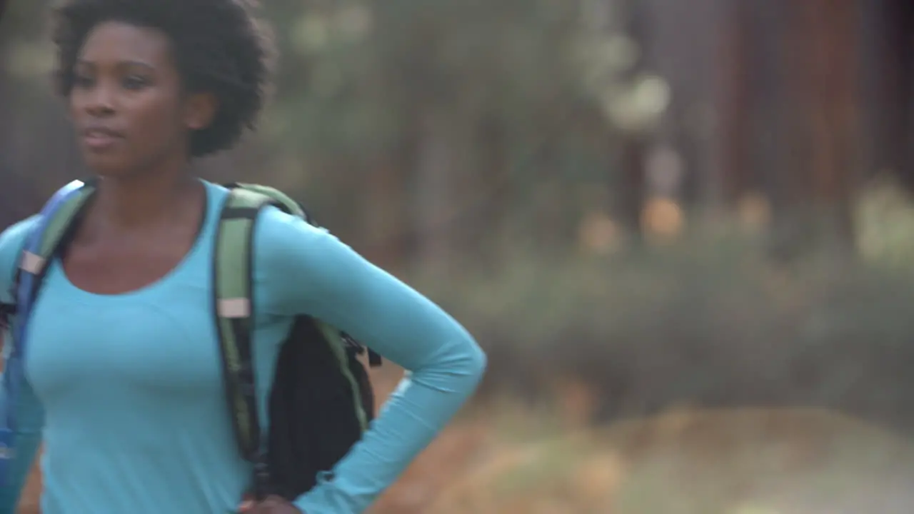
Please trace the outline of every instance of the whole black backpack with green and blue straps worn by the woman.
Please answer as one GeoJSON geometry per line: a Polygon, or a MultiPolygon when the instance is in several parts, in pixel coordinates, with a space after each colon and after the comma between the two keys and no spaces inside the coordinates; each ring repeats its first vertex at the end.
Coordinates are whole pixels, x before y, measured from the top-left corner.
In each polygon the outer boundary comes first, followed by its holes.
{"type": "MultiPolygon", "coordinates": [[[[292,500],[308,491],[318,477],[361,439],[374,419],[375,398],[359,356],[365,347],[344,332],[311,316],[297,316],[282,342],[268,397],[269,429],[258,417],[250,342],[255,312],[252,298],[253,235],[260,209],[275,206],[318,226],[303,206],[281,191],[255,184],[231,183],[222,206],[212,263],[212,312],[218,333],[223,381],[240,455],[252,464],[246,496],[279,495],[292,500]],[[266,432],[266,434],[264,434],[266,432]]],[[[37,229],[26,242],[16,273],[14,347],[6,361],[4,386],[10,395],[0,423],[3,445],[15,448],[15,400],[22,380],[27,320],[39,293],[46,264],[67,243],[82,208],[94,192],[93,181],[74,181],[48,201],[37,229]]],[[[369,365],[381,358],[367,350],[369,365]]],[[[0,472],[3,469],[0,468],[0,472]]]]}

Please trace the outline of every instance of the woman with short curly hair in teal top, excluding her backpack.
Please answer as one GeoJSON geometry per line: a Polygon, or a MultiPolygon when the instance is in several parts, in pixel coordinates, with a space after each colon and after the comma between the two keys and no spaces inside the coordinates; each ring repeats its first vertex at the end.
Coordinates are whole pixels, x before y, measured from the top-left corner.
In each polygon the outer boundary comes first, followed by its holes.
{"type": "MultiPolygon", "coordinates": [[[[70,0],[56,12],[59,92],[100,181],[29,325],[23,401],[41,415],[19,428],[43,427],[44,514],[239,507],[250,466],[234,443],[208,306],[227,190],[187,165],[233,145],[260,110],[257,27],[239,0],[70,0]]],[[[34,224],[0,236],[0,301],[11,301],[34,224]]],[[[484,353],[438,306],[302,220],[262,211],[255,244],[255,361],[275,362],[292,316],[308,314],[411,373],[332,474],[249,511],[362,512],[472,394],[484,353]]],[[[37,437],[17,444],[19,479],[0,513],[14,511],[37,437]]]]}

